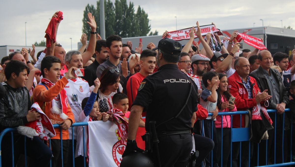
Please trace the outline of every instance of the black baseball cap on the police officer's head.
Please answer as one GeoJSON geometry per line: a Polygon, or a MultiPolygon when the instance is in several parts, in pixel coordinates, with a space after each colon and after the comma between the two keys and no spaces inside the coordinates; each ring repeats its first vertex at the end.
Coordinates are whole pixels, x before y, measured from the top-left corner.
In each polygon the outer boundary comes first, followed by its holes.
{"type": "Polygon", "coordinates": [[[159,41],[158,47],[153,48],[153,51],[161,49],[161,51],[173,55],[180,54],[182,45],[176,40],[163,38],[159,41]]]}

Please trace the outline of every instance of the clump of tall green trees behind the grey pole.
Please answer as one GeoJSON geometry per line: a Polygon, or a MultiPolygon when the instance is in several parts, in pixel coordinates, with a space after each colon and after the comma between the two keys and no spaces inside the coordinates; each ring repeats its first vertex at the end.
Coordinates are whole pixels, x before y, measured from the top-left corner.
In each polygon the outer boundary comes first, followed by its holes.
{"type": "MultiPolygon", "coordinates": [[[[110,0],[104,0],[105,12],[105,32],[106,37],[112,34],[120,35],[122,38],[146,36],[150,31],[148,25],[148,14],[138,7],[135,13],[134,4],[127,4],[127,0],[115,0],[114,4],[110,0]]],[[[93,5],[87,4],[84,10],[83,17],[83,33],[90,34],[87,13],[91,12],[94,15],[97,23],[97,32],[100,33],[100,3],[96,2],[96,8],[93,5]]],[[[88,35],[89,38],[89,35],[88,35]]]]}

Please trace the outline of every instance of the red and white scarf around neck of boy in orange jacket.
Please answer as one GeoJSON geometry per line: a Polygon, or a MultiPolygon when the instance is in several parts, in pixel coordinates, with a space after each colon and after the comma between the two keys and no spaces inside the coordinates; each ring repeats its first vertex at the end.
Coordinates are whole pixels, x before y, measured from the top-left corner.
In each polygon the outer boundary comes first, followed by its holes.
{"type": "MultiPolygon", "coordinates": [[[[55,83],[50,82],[46,78],[41,79],[41,83],[45,84],[49,87],[55,85],[55,83]]],[[[65,90],[61,90],[60,93],[52,100],[51,102],[52,108],[50,111],[53,114],[58,114],[61,119],[68,119],[67,111],[68,111],[68,97],[66,95],[65,90]]]]}

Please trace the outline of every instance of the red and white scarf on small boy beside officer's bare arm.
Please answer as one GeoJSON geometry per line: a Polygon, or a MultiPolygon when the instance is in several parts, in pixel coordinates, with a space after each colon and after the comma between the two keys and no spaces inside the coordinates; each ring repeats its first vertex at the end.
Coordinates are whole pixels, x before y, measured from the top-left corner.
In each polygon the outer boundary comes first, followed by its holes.
{"type": "Polygon", "coordinates": [[[128,132],[128,122],[125,121],[122,116],[124,116],[123,112],[119,109],[113,108],[106,112],[114,113],[112,121],[115,120],[118,123],[118,132],[117,134],[121,138],[121,141],[124,142],[127,139],[127,132],[128,132]]]}

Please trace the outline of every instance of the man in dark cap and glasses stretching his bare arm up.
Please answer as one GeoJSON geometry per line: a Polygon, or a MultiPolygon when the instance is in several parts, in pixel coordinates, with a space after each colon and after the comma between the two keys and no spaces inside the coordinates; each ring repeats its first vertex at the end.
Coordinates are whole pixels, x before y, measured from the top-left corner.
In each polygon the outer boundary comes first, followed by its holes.
{"type": "Polygon", "coordinates": [[[215,52],[214,56],[210,59],[211,71],[217,73],[225,73],[227,77],[230,77],[235,71],[231,68],[232,58],[235,57],[235,53],[240,48],[240,44],[237,42],[232,47],[230,53],[221,54],[215,52]]]}

